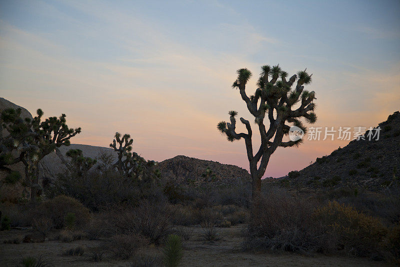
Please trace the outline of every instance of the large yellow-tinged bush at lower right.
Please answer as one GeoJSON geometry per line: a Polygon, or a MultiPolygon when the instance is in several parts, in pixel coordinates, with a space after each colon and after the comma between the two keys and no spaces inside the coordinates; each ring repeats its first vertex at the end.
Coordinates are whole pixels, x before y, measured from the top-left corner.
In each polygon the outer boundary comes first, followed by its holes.
{"type": "Polygon", "coordinates": [[[368,255],[386,233],[382,223],[351,206],[331,201],[316,209],[313,219],[319,221],[335,247],[354,255],[368,255]]]}

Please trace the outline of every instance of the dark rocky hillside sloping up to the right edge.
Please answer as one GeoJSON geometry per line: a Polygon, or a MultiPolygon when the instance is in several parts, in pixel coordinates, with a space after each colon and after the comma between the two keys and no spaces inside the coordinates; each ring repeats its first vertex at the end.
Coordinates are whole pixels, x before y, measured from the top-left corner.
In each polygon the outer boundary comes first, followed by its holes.
{"type": "MultiPolygon", "coordinates": [[[[378,140],[353,140],[306,168],[290,172],[279,182],[287,187],[350,187],[379,190],[392,187],[400,177],[400,113],[379,123],[378,140]]],[[[366,137],[365,133],[365,137],[366,137]]]]}

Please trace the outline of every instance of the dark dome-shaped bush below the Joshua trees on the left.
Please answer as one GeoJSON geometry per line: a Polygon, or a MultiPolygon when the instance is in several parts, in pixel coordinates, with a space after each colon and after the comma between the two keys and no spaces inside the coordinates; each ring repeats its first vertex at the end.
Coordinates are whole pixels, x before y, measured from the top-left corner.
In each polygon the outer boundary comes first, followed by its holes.
{"type": "Polygon", "coordinates": [[[90,220],[89,210],[72,197],[59,195],[41,203],[35,212],[35,217],[49,217],[55,228],[65,226],[65,215],[74,213],[76,226],[85,226],[90,220]]]}

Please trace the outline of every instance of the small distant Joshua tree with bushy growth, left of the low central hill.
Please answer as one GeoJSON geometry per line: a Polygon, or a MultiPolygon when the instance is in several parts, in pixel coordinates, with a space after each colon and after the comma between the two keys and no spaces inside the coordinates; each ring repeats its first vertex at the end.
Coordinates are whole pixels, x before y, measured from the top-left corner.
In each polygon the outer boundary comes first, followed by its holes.
{"type": "Polygon", "coordinates": [[[114,137],[115,139],[109,144],[118,154],[117,161],[113,164],[113,167],[125,178],[141,179],[147,169],[155,165],[155,161],[146,161],[137,153],[131,152],[133,139],[130,138],[129,134],[124,134],[121,138],[121,134],[116,132],[114,137]]]}

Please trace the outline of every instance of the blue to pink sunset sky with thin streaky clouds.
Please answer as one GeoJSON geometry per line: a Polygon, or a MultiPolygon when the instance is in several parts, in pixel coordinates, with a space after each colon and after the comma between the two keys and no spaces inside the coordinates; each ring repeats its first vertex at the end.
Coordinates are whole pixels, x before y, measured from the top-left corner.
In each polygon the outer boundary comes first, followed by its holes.
{"type": "MultiPolygon", "coordinates": [[[[253,73],[250,95],[262,65],[306,68],[323,137],[324,127],[369,128],[400,109],[399,48],[399,1],[0,0],[0,97],[65,113],[82,128],[72,143],[107,147],[118,131],[146,159],[248,169],[244,140],[216,129],[229,110],[253,121],[231,88],[237,69],[253,73]]],[[[337,137],[278,148],[264,177],[348,143],[337,137]]]]}

